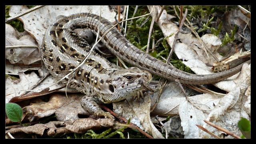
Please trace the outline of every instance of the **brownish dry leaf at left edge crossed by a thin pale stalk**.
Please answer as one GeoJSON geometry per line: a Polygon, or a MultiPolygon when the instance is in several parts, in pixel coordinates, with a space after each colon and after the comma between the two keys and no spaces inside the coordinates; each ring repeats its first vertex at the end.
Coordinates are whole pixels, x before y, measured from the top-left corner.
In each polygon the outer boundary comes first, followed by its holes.
{"type": "MultiPolygon", "coordinates": [[[[5,24],[5,46],[17,46],[17,45],[32,45],[37,46],[34,38],[27,32],[24,34],[17,34],[11,25],[5,24]],[[21,36],[21,37],[20,37],[21,36]]],[[[23,63],[32,64],[41,60],[40,53],[37,48],[18,47],[18,48],[6,48],[6,59],[10,63],[23,63]]]]}

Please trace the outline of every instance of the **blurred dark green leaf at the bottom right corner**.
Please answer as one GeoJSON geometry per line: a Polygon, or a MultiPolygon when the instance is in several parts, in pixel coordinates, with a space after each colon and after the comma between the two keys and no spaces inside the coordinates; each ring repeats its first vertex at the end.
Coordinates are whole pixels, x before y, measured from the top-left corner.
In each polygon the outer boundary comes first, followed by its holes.
{"type": "Polygon", "coordinates": [[[240,129],[240,131],[242,132],[242,134],[246,138],[251,138],[251,125],[250,125],[250,121],[248,121],[247,119],[241,117],[241,119],[238,122],[237,126],[238,126],[238,128],[240,129]]]}

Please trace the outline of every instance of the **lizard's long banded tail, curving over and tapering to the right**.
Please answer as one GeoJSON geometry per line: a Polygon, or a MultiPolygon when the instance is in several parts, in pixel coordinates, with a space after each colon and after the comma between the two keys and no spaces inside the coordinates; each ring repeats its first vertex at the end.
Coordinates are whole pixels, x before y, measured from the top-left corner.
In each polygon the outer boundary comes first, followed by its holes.
{"type": "MultiPolygon", "coordinates": [[[[102,37],[113,26],[112,23],[107,19],[101,18],[100,21],[99,16],[90,13],[74,14],[68,16],[66,19],[68,20],[68,22],[64,23],[64,27],[70,27],[71,29],[91,29],[95,35],[98,31],[98,26],[100,25],[99,37],[102,37]]],[[[183,72],[181,70],[173,68],[172,66],[165,64],[161,60],[158,60],[153,56],[144,53],[143,51],[132,45],[122,35],[122,33],[118,31],[116,27],[114,27],[104,36],[103,43],[106,44],[106,47],[108,47],[108,49],[112,53],[122,58],[124,61],[168,80],[179,80],[183,84],[201,85],[219,82],[236,74],[242,68],[242,64],[240,64],[239,66],[230,70],[214,74],[189,74],[187,72],[183,72]]]]}

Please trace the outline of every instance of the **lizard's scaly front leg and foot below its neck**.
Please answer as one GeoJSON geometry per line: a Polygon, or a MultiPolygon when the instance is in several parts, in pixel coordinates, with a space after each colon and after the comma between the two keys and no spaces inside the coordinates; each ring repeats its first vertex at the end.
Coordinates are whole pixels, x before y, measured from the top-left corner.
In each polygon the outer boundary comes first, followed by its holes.
{"type": "Polygon", "coordinates": [[[98,104],[102,103],[99,97],[96,95],[86,95],[82,97],[80,100],[80,104],[84,111],[90,113],[91,115],[95,115],[97,117],[104,116],[105,118],[114,119],[114,116],[109,112],[103,111],[98,104]]]}

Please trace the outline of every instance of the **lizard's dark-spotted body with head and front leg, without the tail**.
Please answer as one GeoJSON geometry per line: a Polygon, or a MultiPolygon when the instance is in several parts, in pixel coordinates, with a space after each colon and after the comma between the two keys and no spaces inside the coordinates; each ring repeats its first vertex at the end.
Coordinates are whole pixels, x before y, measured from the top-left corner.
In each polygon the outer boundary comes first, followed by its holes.
{"type": "MultiPolygon", "coordinates": [[[[66,27],[66,17],[57,19],[44,35],[41,54],[46,68],[57,79],[63,78],[70,70],[76,68],[91,47],[80,29],[60,29],[66,27]]],[[[128,97],[143,97],[143,84],[148,84],[152,75],[136,67],[120,69],[102,56],[93,52],[64,83],[86,96],[81,105],[91,115],[113,118],[110,113],[100,109],[100,103],[112,103],[128,97]],[[70,80],[68,82],[68,80],[70,80]]]]}

